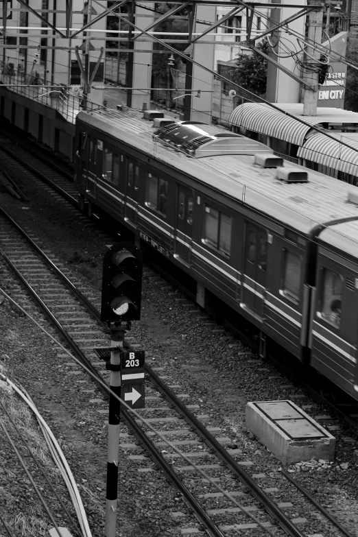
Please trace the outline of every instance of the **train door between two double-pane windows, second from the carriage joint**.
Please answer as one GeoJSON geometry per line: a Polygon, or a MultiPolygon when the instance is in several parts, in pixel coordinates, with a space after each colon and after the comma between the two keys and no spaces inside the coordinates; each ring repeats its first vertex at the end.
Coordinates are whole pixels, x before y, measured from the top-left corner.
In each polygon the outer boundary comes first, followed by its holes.
{"type": "Polygon", "coordinates": [[[193,229],[193,192],[179,184],[177,199],[176,257],[189,265],[193,229]]]}

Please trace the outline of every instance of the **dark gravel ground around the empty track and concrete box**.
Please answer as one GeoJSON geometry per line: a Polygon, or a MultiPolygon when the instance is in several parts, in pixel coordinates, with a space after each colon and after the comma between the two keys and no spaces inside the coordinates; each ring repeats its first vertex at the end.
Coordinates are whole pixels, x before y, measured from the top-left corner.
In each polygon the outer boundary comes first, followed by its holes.
{"type": "MultiPolygon", "coordinates": [[[[99,293],[105,251],[103,235],[86,220],[80,220],[79,224],[78,215],[45,193],[37,182],[30,180],[27,172],[16,172],[8,158],[4,157],[3,162],[4,169],[11,171],[14,177],[17,175],[19,186],[30,202],[19,203],[8,194],[0,193],[1,206],[36,233],[78,278],[83,278],[87,287],[99,293]]],[[[0,272],[0,281],[3,281],[1,274],[4,275],[5,270],[0,272]]],[[[280,472],[281,465],[246,431],[246,403],[289,398],[304,406],[313,417],[330,414],[329,409],[315,405],[304,394],[302,396],[300,390],[291,386],[274,368],[259,361],[242,346],[235,346],[235,340],[228,333],[200,318],[195,309],[189,313],[188,310],[193,309],[189,302],[156,279],[150,274],[144,278],[142,320],[133,324],[130,336],[146,350],[150,365],[164,368],[160,370],[161,374],[169,373],[171,381],[180,385],[180,391],[191,395],[189,402],[200,405],[200,413],[208,415],[205,425],[221,427],[222,432],[230,437],[232,446],[241,449],[241,459],[245,457],[254,462],[252,473],[264,473],[267,483],[269,480],[271,483],[280,472]]],[[[41,414],[46,416],[56,438],[60,439],[80,485],[93,536],[103,535],[106,483],[106,425],[103,414],[98,413],[95,405],[88,405],[84,384],[76,385],[66,380],[65,368],[56,363],[56,346],[19,311],[13,310],[6,300],[0,305],[0,333],[3,335],[0,342],[1,363],[29,392],[41,414]]],[[[95,389],[91,381],[88,384],[86,387],[95,389]]],[[[13,395],[6,393],[2,397],[5,401],[14,399],[13,395]]],[[[21,411],[18,414],[21,417],[21,411]]],[[[289,470],[315,499],[342,521],[353,535],[358,536],[358,442],[337,420],[328,423],[339,427],[335,430],[337,451],[333,464],[312,462],[291,466],[289,470]]],[[[37,431],[32,418],[27,425],[30,431],[37,431]]],[[[126,433],[125,427],[122,433],[126,433]]],[[[42,447],[46,454],[45,446],[42,447]]],[[[11,455],[3,435],[0,435],[0,457],[3,463],[0,505],[7,513],[12,529],[17,525],[17,534],[14,534],[21,535],[21,520],[24,516],[26,521],[33,520],[31,516],[38,508],[38,501],[33,501],[32,491],[27,492],[23,471],[11,455]],[[24,498],[27,501],[23,502],[24,498]]],[[[62,497],[67,497],[48,455],[46,460],[53,482],[62,497]]],[[[180,535],[178,522],[168,516],[169,512],[183,512],[187,515],[188,525],[194,525],[193,517],[161,473],[141,474],[138,470],[143,466],[145,462],[139,464],[126,455],[121,457],[118,535],[180,535]]],[[[47,490],[45,484],[43,488],[47,490]]],[[[60,523],[68,525],[60,517],[60,510],[51,494],[46,497],[51,508],[58,510],[60,523]]],[[[287,490],[281,488],[276,499],[285,501],[285,498],[287,490]]],[[[296,507],[295,504],[294,512],[287,511],[287,514],[290,517],[300,516],[300,505],[296,507]]],[[[38,518],[45,521],[44,514],[38,515],[38,518]]],[[[320,533],[320,519],[309,522],[309,532],[320,533]]],[[[31,522],[27,524],[31,526],[31,522]]],[[[0,529],[1,536],[5,535],[1,532],[0,529]]],[[[41,534],[38,528],[36,532],[27,534],[41,534]]]]}

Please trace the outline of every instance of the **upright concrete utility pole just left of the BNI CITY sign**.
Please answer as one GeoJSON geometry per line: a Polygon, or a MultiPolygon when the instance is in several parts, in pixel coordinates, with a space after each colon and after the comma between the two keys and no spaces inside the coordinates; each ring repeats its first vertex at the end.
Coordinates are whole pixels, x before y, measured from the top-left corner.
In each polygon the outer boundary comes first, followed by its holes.
{"type": "MultiPolygon", "coordinates": [[[[315,3],[314,0],[308,0],[307,5],[315,3]]],[[[323,21],[323,5],[322,8],[309,12],[308,15],[308,41],[313,40],[315,43],[322,42],[322,21],[323,21]]],[[[313,88],[307,88],[305,86],[305,93],[303,96],[303,115],[315,116],[317,114],[317,101],[318,101],[318,69],[321,53],[317,49],[307,45],[306,48],[306,64],[310,69],[305,69],[303,73],[303,80],[307,80],[310,86],[313,88]],[[318,60],[318,61],[316,61],[318,60]],[[313,70],[311,70],[313,69],[313,70]]]]}

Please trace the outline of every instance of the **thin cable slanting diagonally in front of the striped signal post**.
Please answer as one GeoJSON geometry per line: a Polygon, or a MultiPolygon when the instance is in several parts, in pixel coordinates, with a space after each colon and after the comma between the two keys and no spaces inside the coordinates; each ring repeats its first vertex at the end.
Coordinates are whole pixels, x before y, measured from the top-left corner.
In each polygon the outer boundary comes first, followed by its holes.
{"type": "MultiPolygon", "coordinates": [[[[146,427],[148,427],[150,429],[150,431],[152,431],[153,433],[155,433],[156,435],[158,435],[158,437],[163,440],[163,442],[165,442],[169,447],[171,447],[171,449],[173,449],[176,453],[178,453],[178,455],[180,455],[180,457],[182,457],[182,459],[184,459],[188,464],[190,464],[190,466],[192,466],[202,477],[204,477],[204,479],[206,479],[210,484],[212,484],[215,488],[217,488],[217,490],[219,490],[219,492],[222,492],[222,494],[224,494],[224,496],[230,500],[230,502],[234,503],[234,505],[239,508],[241,510],[241,512],[243,512],[243,514],[246,514],[249,518],[252,519],[252,521],[254,521],[254,523],[256,523],[257,525],[259,525],[259,527],[261,527],[262,529],[265,529],[265,531],[271,536],[271,537],[274,537],[274,534],[272,534],[272,532],[270,531],[270,529],[268,527],[266,527],[265,525],[263,525],[263,523],[261,523],[261,521],[259,521],[259,519],[257,519],[254,515],[252,515],[250,512],[246,511],[245,508],[239,503],[237,502],[237,500],[235,500],[235,498],[232,498],[230,496],[230,493],[229,492],[226,492],[226,490],[224,490],[224,488],[222,488],[219,484],[217,484],[216,481],[214,481],[210,476],[206,475],[206,473],[201,469],[199,468],[195,463],[193,463],[188,457],[187,455],[185,455],[184,453],[182,453],[182,451],[180,451],[180,449],[178,449],[176,447],[175,444],[173,444],[170,440],[168,440],[160,431],[158,431],[157,429],[155,429],[151,424],[150,422],[148,422],[145,418],[143,418],[143,416],[141,416],[140,414],[138,414],[138,412],[134,409],[132,409],[127,403],[126,401],[123,401],[123,399],[119,398],[119,396],[117,396],[117,394],[115,394],[114,392],[112,392],[112,390],[110,390],[110,387],[108,385],[106,385],[106,383],[104,383],[104,381],[102,381],[102,379],[100,379],[99,377],[97,377],[93,372],[91,372],[91,370],[89,370],[85,365],[84,363],[82,363],[82,361],[80,361],[79,359],[77,359],[77,357],[75,357],[67,348],[65,348],[59,341],[58,339],[56,339],[56,337],[53,337],[53,335],[51,335],[40,323],[38,323],[36,321],[36,319],[34,319],[32,317],[32,315],[30,315],[29,313],[27,313],[27,311],[25,309],[23,309],[23,307],[21,305],[19,305],[18,302],[16,302],[16,300],[14,300],[10,295],[8,295],[8,293],[6,293],[6,291],[4,289],[2,289],[0,287],[0,292],[5,296],[5,298],[7,298],[8,300],[10,300],[10,302],[12,302],[14,305],[16,305],[16,307],[18,307],[21,311],[23,311],[23,313],[30,319],[32,320],[32,322],[34,322],[34,324],[36,324],[36,326],[38,326],[38,328],[43,331],[53,342],[56,343],[57,346],[59,346],[62,350],[64,350],[65,353],[67,353],[67,355],[69,355],[69,357],[71,357],[71,359],[75,360],[77,362],[77,364],[84,370],[86,371],[99,385],[101,385],[104,390],[106,390],[106,392],[108,392],[108,394],[110,394],[110,396],[114,397],[117,399],[117,401],[119,401],[119,403],[121,403],[121,405],[123,407],[125,407],[127,410],[129,410],[130,412],[132,412],[132,414],[134,414],[134,416],[136,418],[138,418],[142,423],[143,425],[145,425],[146,427]]],[[[12,383],[12,381],[10,381],[10,379],[8,379],[8,377],[6,377],[4,374],[1,374],[0,373],[0,377],[2,377],[6,382],[8,382],[8,384],[14,388],[14,390],[16,390],[16,386],[12,383]]],[[[18,391],[19,389],[17,388],[16,391],[18,391]]],[[[24,394],[21,394],[19,393],[19,395],[21,395],[22,398],[25,399],[25,396],[24,394]]],[[[28,401],[28,400],[27,400],[28,401]]]]}

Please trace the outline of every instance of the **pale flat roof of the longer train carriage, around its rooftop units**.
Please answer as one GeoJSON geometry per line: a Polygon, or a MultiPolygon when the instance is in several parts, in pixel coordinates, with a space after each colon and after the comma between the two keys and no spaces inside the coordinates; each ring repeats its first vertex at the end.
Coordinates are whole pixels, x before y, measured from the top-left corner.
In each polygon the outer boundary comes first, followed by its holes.
{"type": "MultiPolygon", "coordinates": [[[[288,183],[276,178],[276,169],[255,165],[252,155],[193,158],[176,147],[153,139],[152,122],[143,119],[143,112],[133,109],[80,112],[77,121],[105,132],[305,235],[318,224],[333,219],[358,219],[358,205],[347,202],[348,192],[356,187],[311,169],[285,161],[286,169],[298,168],[308,172],[309,176],[308,182],[288,183]]],[[[200,125],[200,128],[204,130],[206,126],[200,125]]],[[[230,132],[222,128],[210,126],[210,129],[211,133],[215,130],[230,136],[230,132]]]]}

